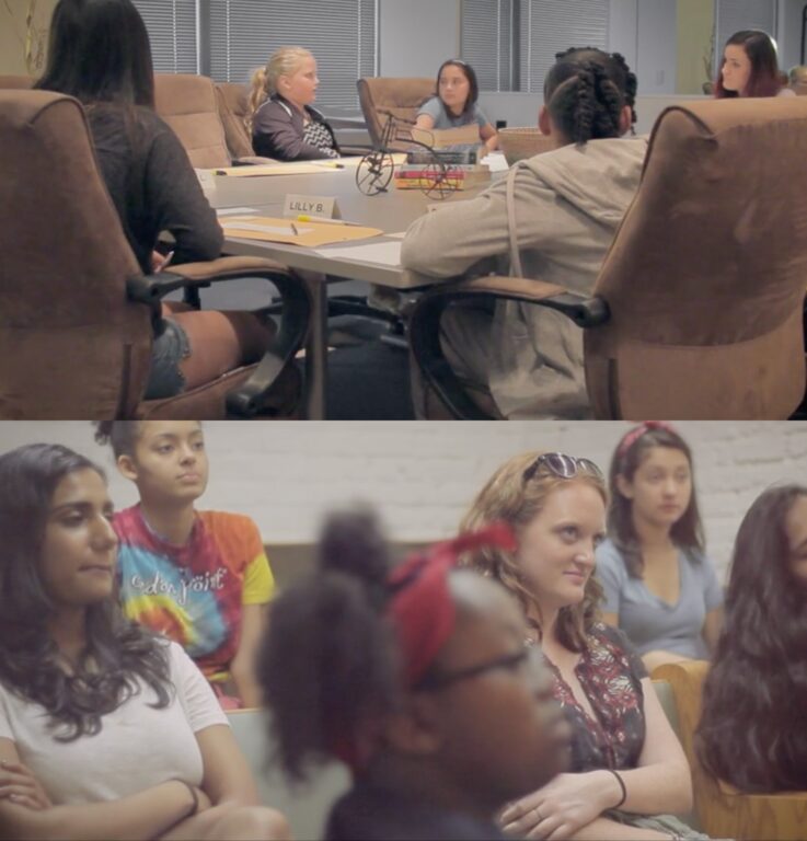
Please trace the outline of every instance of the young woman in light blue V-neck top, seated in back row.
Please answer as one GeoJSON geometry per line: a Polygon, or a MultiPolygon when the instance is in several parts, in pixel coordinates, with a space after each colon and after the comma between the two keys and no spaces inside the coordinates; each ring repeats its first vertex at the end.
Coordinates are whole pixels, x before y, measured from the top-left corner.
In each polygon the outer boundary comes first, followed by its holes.
{"type": "Polygon", "coordinates": [[[631,429],[611,460],[609,540],[597,551],[603,620],[648,671],[707,659],[723,622],[723,590],[704,555],[692,452],[670,426],[631,429]]]}

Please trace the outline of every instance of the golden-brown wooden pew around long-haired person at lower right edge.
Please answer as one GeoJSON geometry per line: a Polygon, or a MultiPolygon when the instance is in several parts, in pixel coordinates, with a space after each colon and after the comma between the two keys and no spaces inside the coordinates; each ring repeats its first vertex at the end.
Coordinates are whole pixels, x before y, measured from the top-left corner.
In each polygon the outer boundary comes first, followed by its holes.
{"type": "Polygon", "coordinates": [[[712,838],[776,838],[795,841],[805,837],[807,792],[742,794],[734,786],[710,776],[698,761],[694,733],[701,718],[705,660],[659,666],[654,680],[672,687],[679,718],[679,738],[692,769],[695,810],[701,829],[712,838]]]}

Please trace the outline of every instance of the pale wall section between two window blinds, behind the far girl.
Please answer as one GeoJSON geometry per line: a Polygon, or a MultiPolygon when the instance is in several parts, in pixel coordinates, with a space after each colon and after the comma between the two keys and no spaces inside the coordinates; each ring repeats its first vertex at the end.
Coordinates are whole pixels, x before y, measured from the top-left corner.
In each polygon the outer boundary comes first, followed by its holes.
{"type": "Polygon", "coordinates": [[[380,0],[380,76],[437,76],[460,54],[460,0],[380,0]]]}

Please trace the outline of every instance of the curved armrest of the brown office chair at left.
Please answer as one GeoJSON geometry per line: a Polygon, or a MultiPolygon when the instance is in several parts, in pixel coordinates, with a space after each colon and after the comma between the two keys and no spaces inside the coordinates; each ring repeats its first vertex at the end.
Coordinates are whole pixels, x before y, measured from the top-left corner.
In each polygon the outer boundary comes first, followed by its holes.
{"type": "Polygon", "coordinates": [[[250,378],[227,395],[230,414],[252,417],[261,412],[273,383],[305,341],[311,298],[300,278],[272,260],[219,257],[207,263],[172,266],[170,272],[157,275],[129,278],[126,289],[130,300],[154,306],[176,289],[197,290],[200,286],[240,277],[265,278],[276,287],[281,301],[280,324],[270,346],[250,378]]]}

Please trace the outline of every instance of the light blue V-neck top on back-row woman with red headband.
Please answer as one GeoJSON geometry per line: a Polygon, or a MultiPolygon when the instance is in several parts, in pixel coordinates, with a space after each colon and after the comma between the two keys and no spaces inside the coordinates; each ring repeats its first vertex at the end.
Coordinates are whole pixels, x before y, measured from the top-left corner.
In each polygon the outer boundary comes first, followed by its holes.
{"type": "Polygon", "coordinates": [[[678,553],[680,592],[670,604],[650,592],[641,578],[631,578],[622,554],[611,540],[597,549],[597,578],[606,592],[602,610],[619,614],[619,626],[639,654],[654,649],[706,659],[703,640],[706,613],[723,604],[714,565],[707,557],[678,553]]]}

